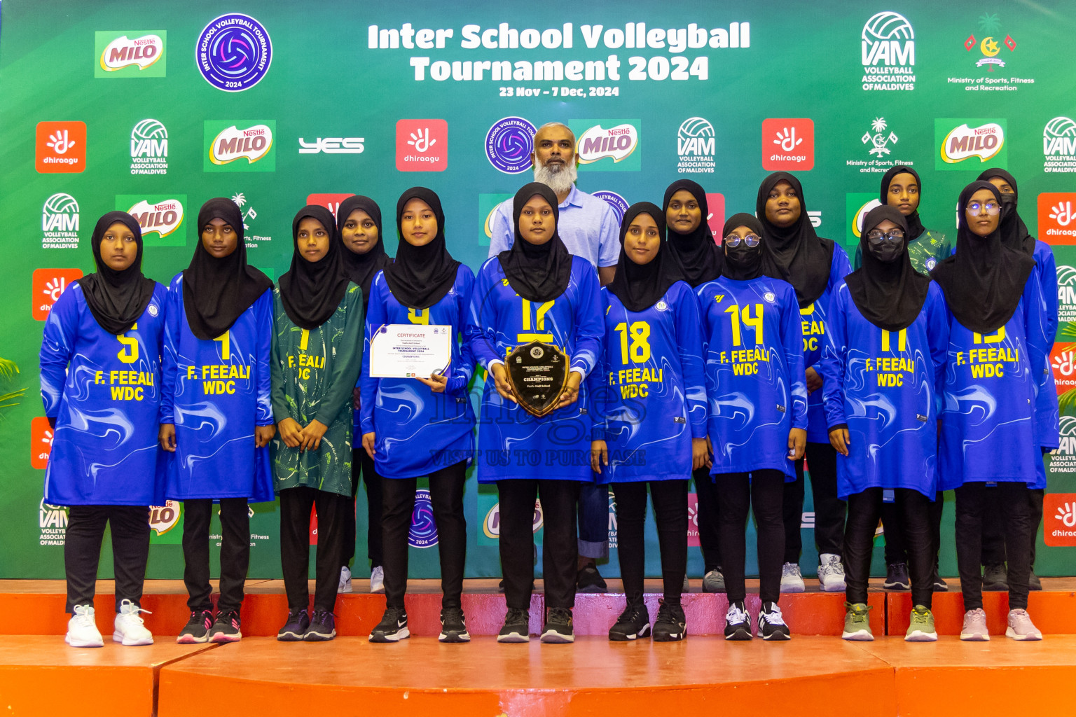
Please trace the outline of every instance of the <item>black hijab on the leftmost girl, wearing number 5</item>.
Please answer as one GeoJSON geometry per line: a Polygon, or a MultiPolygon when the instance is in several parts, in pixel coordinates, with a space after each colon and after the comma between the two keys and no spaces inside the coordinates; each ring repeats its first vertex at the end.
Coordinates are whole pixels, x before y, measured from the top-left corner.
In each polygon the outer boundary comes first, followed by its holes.
{"type": "Polygon", "coordinates": [[[82,287],[86,305],[97,324],[108,333],[125,333],[150,305],[156,286],[156,282],[142,275],[142,227],[127,212],[109,212],[97,220],[89,243],[94,247],[97,272],[83,276],[75,283],[82,287]],[[109,227],[117,221],[131,230],[138,244],[133,263],[123,271],[111,269],[101,261],[101,239],[109,227]]]}

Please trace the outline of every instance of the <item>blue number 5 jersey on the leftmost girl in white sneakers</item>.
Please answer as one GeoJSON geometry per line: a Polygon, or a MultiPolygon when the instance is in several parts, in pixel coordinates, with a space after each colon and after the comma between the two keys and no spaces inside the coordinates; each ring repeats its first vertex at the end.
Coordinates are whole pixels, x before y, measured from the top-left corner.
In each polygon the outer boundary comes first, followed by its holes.
{"type": "Polygon", "coordinates": [[[45,469],[51,505],[162,505],[157,447],[167,289],[119,334],[100,327],[73,284],[53,304],[41,342],[41,400],[55,419],[45,469]]]}

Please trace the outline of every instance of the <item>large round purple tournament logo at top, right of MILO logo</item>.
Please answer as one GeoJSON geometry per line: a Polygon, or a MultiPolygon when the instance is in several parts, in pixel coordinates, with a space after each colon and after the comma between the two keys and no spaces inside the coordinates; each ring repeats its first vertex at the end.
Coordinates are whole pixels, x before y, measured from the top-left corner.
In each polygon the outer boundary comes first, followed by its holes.
{"type": "Polygon", "coordinates": [[[195,45],[206,82],[226,92],[241,92],[261,82],[272,63],[272,42],[250,15],[229,13],[213,19],[195,45]]]}

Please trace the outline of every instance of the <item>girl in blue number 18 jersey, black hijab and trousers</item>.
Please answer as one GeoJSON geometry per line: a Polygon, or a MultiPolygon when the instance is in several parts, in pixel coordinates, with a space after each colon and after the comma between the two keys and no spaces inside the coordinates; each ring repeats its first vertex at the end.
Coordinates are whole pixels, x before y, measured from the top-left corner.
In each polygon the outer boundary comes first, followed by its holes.
{"type": "Polygon", "coordinates": [[[617,497],[620,574],[627,598],[609,640],[651,634],[642,602],[649,486],[665,592],[653,639],[675,642],[688,634],[680,605],[688,569],[688,481],[692,470],[709,462],[698,301],[665,243],[660,207],[650,202],[629,206],[620,242],[617,274],[601,290],[603,360],[587,379],[592,468],[612,484],[617,497]]]}

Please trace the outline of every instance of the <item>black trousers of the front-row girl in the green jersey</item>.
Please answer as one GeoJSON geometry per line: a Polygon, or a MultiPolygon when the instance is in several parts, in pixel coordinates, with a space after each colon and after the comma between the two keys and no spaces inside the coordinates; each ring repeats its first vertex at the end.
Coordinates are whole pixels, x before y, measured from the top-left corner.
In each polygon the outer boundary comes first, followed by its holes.
{"type": "Polygon", "coordinates": [[[287,608],[310,605],[310,510],[317,510],[314,610],[336,608],[343,528],[353,503],[348,496],[296,486],[280,491],[280,561],[287,608]]]}

